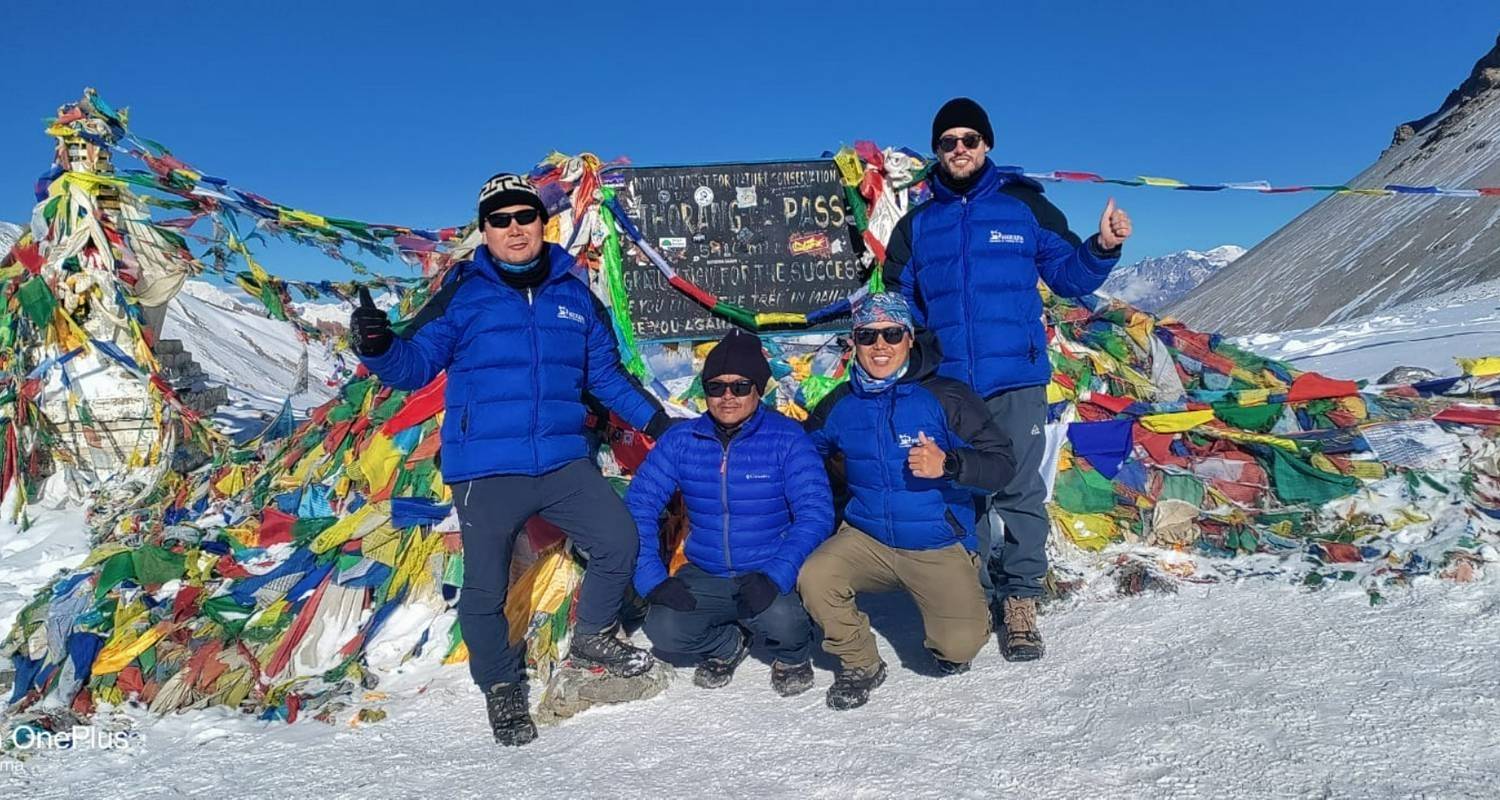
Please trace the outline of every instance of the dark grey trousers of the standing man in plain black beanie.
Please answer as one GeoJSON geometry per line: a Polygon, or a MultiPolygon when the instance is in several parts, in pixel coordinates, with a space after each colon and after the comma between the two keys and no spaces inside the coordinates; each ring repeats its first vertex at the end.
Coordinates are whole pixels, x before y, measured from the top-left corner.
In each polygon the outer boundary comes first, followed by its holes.
{"type": "Polygon", "coordinates": [[[988,600],[1041,597],[1047,576],[1047,483],[1041,462],[1047,455],[1047,387],[1028,386],[1000,392],[984,401],[990,419],[1006,438],[1016,458],[1016,477],[1000,491],[981,500],[975,533],[980,557],[980,584],[988,600]],[[998,536],[996,519],[1005,522],[998,536]]]}

